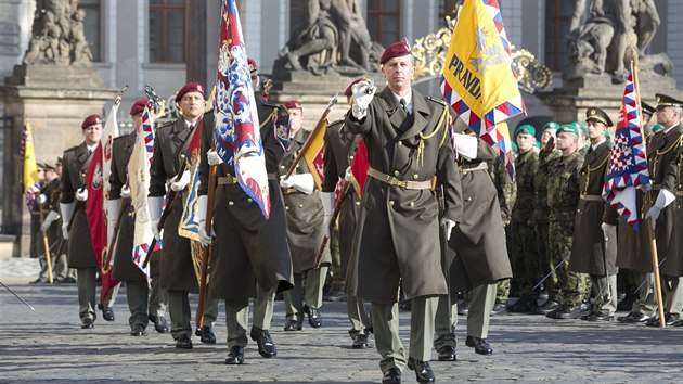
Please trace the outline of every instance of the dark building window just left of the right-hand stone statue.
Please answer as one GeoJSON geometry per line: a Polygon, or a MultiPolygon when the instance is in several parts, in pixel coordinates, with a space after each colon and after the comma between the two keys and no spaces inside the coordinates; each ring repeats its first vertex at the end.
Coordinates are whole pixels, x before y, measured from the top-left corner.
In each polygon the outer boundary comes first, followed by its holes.
{"type": "Polygon", "coordinates": [[[545,65],[564,71],[567,59],[567,36],[574,15],[575,1],[549,0],[545,5],[545,65]]]}

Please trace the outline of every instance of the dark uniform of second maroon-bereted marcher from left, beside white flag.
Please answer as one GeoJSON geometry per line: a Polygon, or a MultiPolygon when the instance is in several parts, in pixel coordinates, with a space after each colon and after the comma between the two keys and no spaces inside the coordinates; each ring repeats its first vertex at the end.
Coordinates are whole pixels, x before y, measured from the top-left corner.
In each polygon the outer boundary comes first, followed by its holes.
{"type": "MultiPolygon", "coordinates": [[[[112,174],[109,176],[109,200],[121,199],[121,188],[128,180],[128,162],[136,143],[137,132],[114,139],[112,144],[112,174]]],[[[121,199],[123,200],[123,199],[121,199]]],[[[112,277],[126,281],[126,297],[130,317],[128,323],[131,330],[141,328],[144,330],[149,323],[149,317],[164,317],[166,311],[166,291],[159,287],[159,253],[155,252],[150,258],[150,272],[152,276],[151,293],[147,285],[147,277],[132,260],[133,236],[136,231],[134,212],[130,199],[123,200],[124,215],[118,222],[118,236],[114,252],[114,267],[112,277]],[[149,298],[149,305],[147,305],[149,298]]],[[[118,212],[109,212],[108,215],[118,215],[118,212]]]]}

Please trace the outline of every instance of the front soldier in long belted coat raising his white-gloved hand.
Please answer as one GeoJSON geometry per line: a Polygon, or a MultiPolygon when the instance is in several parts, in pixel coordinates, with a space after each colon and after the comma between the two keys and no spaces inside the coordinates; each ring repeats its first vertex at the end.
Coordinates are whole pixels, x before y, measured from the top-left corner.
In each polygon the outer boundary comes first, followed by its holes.
{"type": "MultiPolygon", "coordinates": [[[[438,296],[447,293],[440,267],[439,216],[434,178],[444,189],[444,232],[461,220],[461,190],[449,135],[449,106],[412,88],[413,56],[404,42],[379,59],[387,87],[363,80],[352,87],[345,126],[361,133],[370,167],[357,227],[357,296],[372,303],[383,383],[400,383],[401,370],[420,383],[435,381],[429,366],[438,296]],[[399,336],[399,281],[412,298],[410,356],[399,336]]],[[[487,176],[488,177],[488,176],[487,176]]],[[[490,180],[490,179],[489,179],[490,180]]]]}

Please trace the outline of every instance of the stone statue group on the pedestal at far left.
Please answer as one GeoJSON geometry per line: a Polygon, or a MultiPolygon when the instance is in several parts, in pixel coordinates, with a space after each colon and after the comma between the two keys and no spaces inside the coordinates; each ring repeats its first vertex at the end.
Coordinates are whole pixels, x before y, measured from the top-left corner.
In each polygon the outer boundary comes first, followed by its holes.
{"type": "Polygon", "coordinates": [[[78,0],[36,0],[31,39],[24,64],[90,65],[92,53],[83,34],[86,11],[78,0]]]}

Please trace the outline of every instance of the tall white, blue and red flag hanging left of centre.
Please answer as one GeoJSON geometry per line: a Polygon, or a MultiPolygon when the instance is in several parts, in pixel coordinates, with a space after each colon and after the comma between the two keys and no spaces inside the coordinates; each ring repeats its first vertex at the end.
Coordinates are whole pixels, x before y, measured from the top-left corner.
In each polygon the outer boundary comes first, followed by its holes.
{"type": "Polygon", "coordinates": [[[240,187],[268,219],[268,172],[235,0],[222,1],[216,86],[216,152],[235,170],[240,187]]]}

